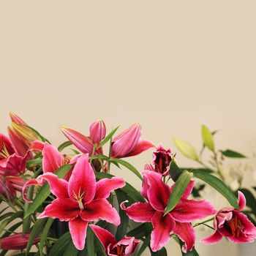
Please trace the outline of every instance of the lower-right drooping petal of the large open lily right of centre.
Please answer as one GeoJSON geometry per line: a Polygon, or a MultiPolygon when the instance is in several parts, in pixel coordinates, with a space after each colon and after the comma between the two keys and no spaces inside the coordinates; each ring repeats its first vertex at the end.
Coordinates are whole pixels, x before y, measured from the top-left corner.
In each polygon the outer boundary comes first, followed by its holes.
{"type": "Polygon", "coordinates": [[[184,241],[185,244],[182,246],[183,252],[192,250],[195,245],[195,230],[190,223],[176,222],[173,233],[184,241]]]}

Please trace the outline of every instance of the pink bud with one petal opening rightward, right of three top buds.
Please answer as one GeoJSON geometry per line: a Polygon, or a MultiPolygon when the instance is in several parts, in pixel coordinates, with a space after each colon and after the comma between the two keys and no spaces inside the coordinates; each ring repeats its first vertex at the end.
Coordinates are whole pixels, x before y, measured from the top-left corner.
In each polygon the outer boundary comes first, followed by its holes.
{"type": "Polygon", "coordinates": [[[154,147],[154,144],[148,140],[140,140],[141,126],[133,124],[121,134],[112,140],[112,157],[132,157],[154,147]]]}

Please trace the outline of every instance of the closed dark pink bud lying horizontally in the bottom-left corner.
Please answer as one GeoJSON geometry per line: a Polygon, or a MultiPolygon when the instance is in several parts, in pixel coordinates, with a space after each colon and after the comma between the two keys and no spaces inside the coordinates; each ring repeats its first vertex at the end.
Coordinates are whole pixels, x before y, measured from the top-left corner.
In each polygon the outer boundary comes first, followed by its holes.
{"type": "MultiPolygon", "coordinates": [[[[14,234],[0,239],[0,249],[10,250],[10,249],[26,249],[29,241],[29,233],[14,234]]],[[[40,241],[39,236],[34,238],[33,244],[37,244],[40,241]]]]}

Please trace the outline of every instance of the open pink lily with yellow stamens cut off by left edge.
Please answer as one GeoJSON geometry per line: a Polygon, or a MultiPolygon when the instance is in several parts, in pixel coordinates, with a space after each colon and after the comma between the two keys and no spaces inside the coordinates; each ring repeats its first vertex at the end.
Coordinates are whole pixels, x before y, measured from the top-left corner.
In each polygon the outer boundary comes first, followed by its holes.
{"type": "Polygon", "coordinates": [[[0,174],[19,176],[26,169],[26,157],[16,154],[15,147],[7,136],[0,134],[0,174]]]}

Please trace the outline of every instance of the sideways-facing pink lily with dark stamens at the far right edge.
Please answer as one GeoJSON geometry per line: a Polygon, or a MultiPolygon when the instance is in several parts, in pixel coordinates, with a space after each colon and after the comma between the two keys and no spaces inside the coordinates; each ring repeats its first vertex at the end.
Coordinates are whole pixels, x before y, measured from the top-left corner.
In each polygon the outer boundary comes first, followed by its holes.
{"type": "Polygon", "coordinates": [[[238,191],[239,210],[225,207],[218,211],[214,219],[215,232],[201,241],[204,244],[216,244],[223,236],[233,243],[252,242],[256,238],[256,227],[240,211],[246,206],[244,194],[238,191]]]}

